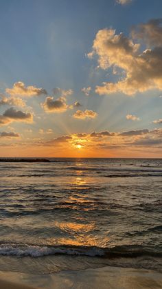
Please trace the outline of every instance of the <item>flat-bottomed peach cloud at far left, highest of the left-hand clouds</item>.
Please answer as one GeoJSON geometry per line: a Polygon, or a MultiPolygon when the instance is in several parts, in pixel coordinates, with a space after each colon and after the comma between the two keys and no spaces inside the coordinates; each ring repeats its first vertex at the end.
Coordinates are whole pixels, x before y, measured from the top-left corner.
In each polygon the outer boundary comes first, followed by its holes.
{"type": "Polygon", "coordinates": [[[40,94],[47,94],[47,91],[43,88],[36,88],[35,86],[26,86],[21,81],[15,82],[13,88],[6,88],[5,92],[12,96],[21,97],[34,97],[40,94]]]}

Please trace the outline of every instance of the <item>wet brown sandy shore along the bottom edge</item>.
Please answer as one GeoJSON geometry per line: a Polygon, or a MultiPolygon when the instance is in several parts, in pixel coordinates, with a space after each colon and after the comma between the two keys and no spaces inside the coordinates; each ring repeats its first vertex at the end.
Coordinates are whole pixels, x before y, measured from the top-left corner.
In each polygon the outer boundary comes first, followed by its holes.
{"type": "Polygon", "coordinates": [[[0,272],[1,289],[159,289],[162,274],[152,270],[104,267],[82,271],[62,271],[50,275],[0,272]],[[10,280],[14,283],[8,283],[10,280]],[[21,285],[16,285],[21,284],[21,285]],[[34,287],[30,287],[34,286],[34,287]]]}

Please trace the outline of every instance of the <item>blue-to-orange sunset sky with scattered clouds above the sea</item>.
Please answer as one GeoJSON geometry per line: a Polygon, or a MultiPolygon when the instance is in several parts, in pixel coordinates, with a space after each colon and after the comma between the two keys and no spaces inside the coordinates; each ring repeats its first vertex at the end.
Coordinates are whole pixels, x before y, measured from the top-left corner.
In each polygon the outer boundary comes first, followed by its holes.
{"type": "Polygon", "coordinates": [[[161,0],[0,0],[0,157],[162,157],[161,0]]]}

